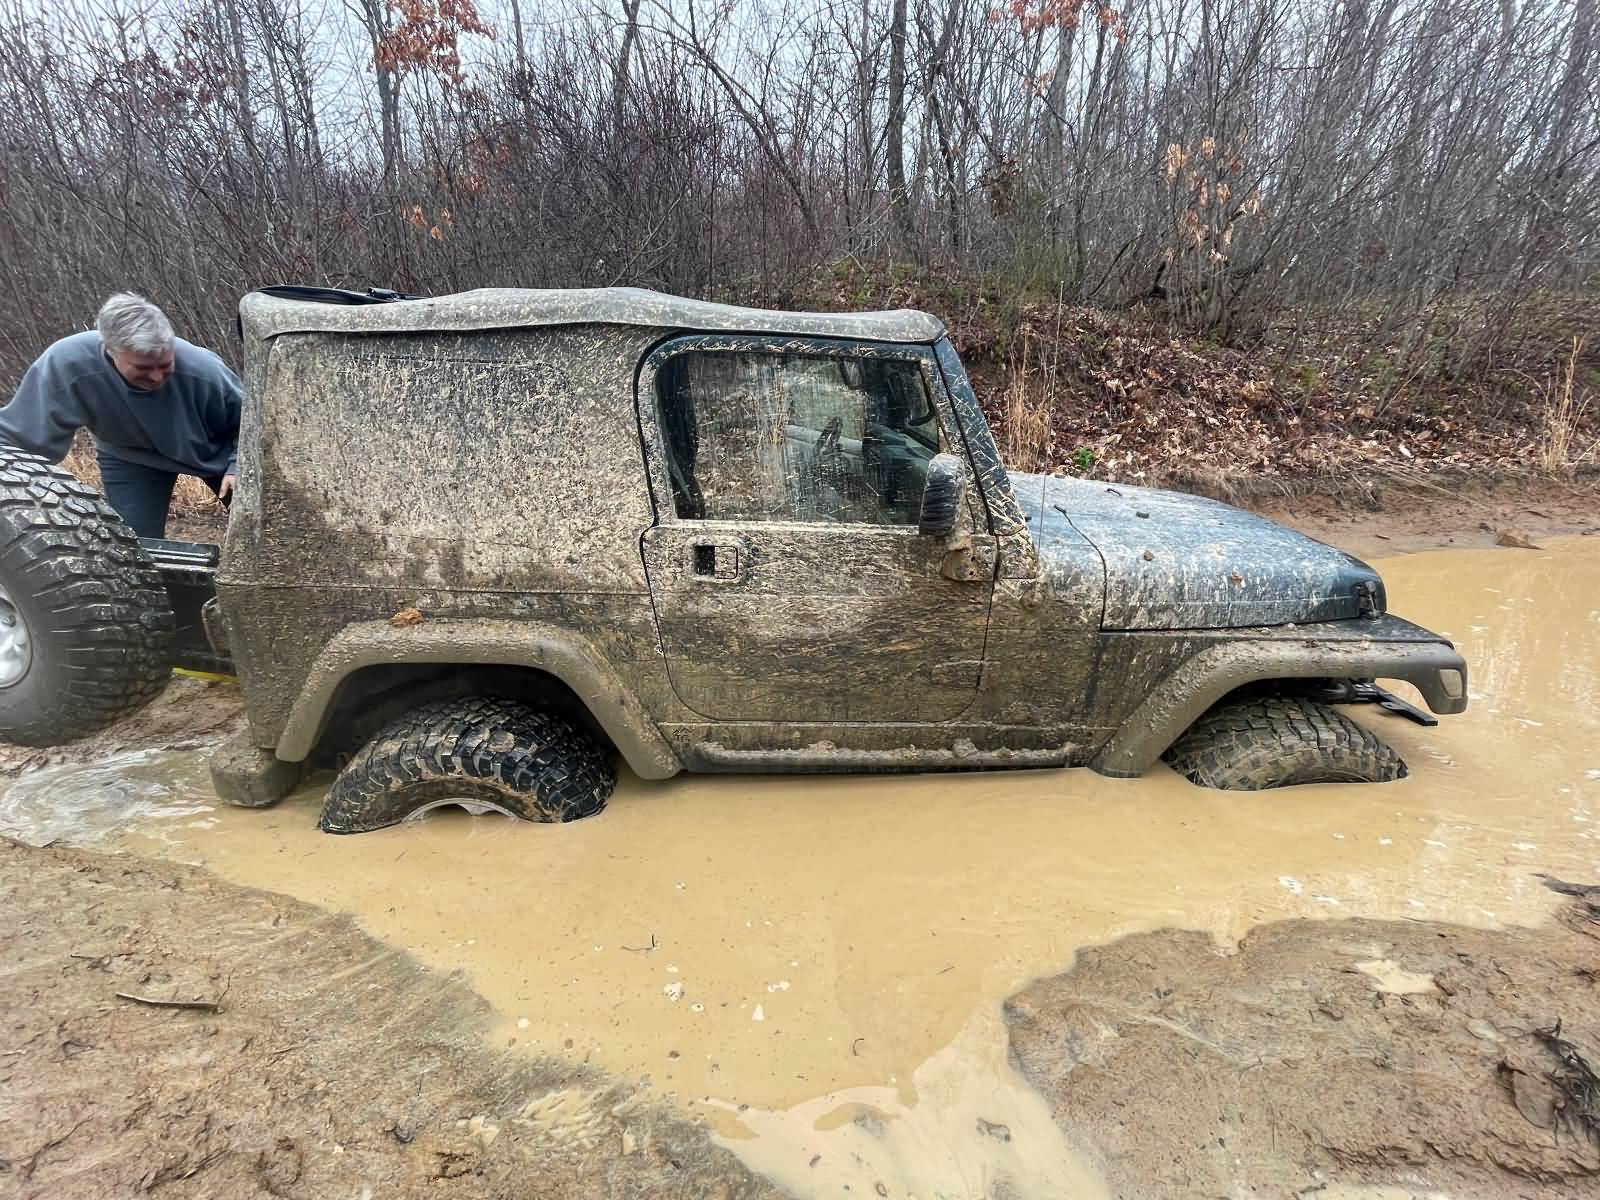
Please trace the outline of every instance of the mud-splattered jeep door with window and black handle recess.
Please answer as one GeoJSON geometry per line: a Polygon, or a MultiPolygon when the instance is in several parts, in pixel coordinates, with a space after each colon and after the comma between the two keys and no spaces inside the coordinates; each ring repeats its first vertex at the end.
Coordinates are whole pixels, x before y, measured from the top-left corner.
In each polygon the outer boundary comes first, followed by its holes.
{"type": "Polygon", "coordinates": [[[973,702],[995,539],[971,480],[970,552],[918,533],[928,461],[962,445],[930,347],[677,338],[643,363],[638,406],[645,570],[685,706],[854,723],[973,702]]]}

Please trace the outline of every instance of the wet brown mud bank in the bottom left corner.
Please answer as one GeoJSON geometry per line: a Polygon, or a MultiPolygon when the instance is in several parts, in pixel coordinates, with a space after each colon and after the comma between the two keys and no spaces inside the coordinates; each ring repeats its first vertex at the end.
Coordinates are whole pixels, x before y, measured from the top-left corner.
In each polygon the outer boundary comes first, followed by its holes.
{"type": "Polygon", "coordinates": [[[349,917],[0,842],[0,1195],[781,1195],[349,917]],[[163,1008],[138,1000],[205,1002],[163,1008]]]}

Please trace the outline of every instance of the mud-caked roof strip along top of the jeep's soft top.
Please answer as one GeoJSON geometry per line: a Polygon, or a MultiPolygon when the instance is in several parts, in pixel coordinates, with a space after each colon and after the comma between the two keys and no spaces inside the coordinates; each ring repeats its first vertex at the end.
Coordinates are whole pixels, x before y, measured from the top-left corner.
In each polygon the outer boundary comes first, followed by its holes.
{"type": "Polygon", "coordinates": [[[643,325],[694,333],[778,333],[933,342],[944,325],[926,312],[781,312],[667,296],[643,288],[480,288],[390,304],[320,304],[261,291],[238,304],[251,338],[283,333],[432,333],[541,325],[643,325]]]}

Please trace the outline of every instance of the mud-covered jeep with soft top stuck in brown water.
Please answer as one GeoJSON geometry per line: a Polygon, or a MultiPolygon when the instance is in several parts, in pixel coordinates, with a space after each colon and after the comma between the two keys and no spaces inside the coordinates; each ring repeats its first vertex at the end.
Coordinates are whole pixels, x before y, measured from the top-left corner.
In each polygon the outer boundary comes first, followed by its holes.
{"type": "Polygon", "coordinates": [[[1008,472],[926,314],[272,291],[240,306],[219,555],[141,547],[5,458],[0,640],[32,648],[0,646],[0,731],[78,734],[147,699],[163,653],[226,658],[250,720],[218,794],[267,805],[330,765],[322,826],[350,832],[437,803],[586,816],[618,757],[645,779],[1165,757],[1211,787],[1382,781],[1405,765],[1339,704],[1408,709],[1374,685],[1398,678],[1466,707],[1461,656],[1360,560],[1213,501],[1008,472]]]}

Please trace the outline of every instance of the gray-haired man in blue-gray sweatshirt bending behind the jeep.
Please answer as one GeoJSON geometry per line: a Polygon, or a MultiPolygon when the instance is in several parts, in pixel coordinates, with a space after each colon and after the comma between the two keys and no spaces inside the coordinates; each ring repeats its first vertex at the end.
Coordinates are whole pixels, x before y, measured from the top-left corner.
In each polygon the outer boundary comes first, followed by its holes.
{"type": "Polygon", "coordinates": [[[62,338],[27,368],[0,408],[0,442],[59,462],[88,429],[106,499],[141,538],[160,538],[179,475],[232,499],[240,394],[221,358],[174,336],[142,296],[118,291],[93,330],[62,338]]]}

